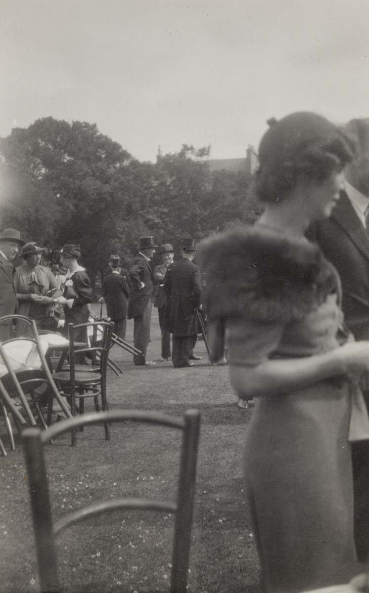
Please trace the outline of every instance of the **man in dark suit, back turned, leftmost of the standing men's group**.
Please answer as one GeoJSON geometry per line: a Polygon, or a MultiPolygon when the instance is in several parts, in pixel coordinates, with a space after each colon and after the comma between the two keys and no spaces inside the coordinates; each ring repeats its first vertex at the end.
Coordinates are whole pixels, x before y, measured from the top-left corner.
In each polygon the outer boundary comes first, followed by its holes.
{"type": "Polygon", "coordinates": [[[129,286],[124,276],[120,275],[119,264],[119,259],[112,260],[112,273],[103,280],[103,296],[99,302],[105,299],[107,315],[114,322],[114,333],[125,340],[129,286]]]}

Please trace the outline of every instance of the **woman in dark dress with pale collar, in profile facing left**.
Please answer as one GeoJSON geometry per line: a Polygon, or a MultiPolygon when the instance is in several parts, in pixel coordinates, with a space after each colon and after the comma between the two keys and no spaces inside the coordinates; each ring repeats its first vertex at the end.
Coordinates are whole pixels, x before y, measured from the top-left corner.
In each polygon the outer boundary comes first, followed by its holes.
{"type": "MultiPolygon", "coordinates": [[[[55,302],[63,305],[65,315],[63,334],[66,337],[68,337],[68,323],[74,325],[87,323],[88,304],[92,301],[90,278],[88,278],[84,267],[79,265],[79,257],[81,257],[81,251],[76,245],[68,244],[61,250],[61,264],[68,270],[68,273],[63,296],[55,299],[55,302]]],[[[87,343],[87,331],[84,328],[75,331],[74,336],[77,342],[87,343]]]]}

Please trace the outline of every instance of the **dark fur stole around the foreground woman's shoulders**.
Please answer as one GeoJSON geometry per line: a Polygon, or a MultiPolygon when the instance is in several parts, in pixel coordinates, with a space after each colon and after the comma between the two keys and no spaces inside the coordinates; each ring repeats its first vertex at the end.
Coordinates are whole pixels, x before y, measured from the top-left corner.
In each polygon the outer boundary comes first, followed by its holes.
{"type": "Polygon", "coordinates": [[[339,291],[335,268],[305,239],[255,225],[210,237],[199,247],[210,319],[298,319],[339,291]]]}

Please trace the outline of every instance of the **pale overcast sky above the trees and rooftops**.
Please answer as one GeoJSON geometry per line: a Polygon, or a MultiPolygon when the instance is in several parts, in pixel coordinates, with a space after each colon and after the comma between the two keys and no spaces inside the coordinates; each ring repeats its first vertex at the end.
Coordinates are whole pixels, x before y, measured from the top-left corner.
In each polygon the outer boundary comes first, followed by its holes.
{"type": "Polygon", "coordinates": [[[1,0],[0,49],[0,136],[53,116],[233,158],[272,116],[369,116],[368,0],[1,0]]]}

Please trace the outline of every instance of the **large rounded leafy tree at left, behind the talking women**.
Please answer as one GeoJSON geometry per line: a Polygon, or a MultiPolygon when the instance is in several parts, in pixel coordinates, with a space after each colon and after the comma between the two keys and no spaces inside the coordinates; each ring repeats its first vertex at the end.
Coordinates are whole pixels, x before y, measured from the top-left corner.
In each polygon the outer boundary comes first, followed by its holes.
{"type": "Polygon", "coordinates": [[[52,117],[13,129],[1,139],[0,154],[7,221],[19,221],[37,241],[53,240],[53,247],[80,243],[93,280],[103,238],[118,229],[131,155],[94,124],[52,117]],[[28,218],[32,203],[36,215],[28,218]]]}

